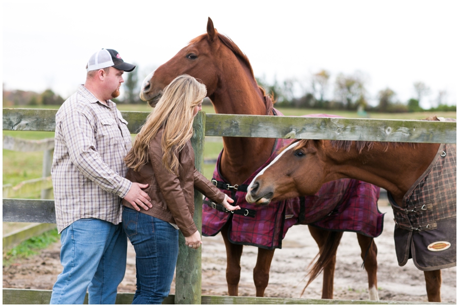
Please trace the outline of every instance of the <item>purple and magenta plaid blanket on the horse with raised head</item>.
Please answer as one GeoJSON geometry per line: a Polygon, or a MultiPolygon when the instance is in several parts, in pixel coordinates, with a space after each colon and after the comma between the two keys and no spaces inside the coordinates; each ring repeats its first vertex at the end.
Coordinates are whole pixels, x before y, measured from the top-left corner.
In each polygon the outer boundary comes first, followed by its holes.
{"type": "MultiPolygon", "coordinates": [[[[326,115],[322,115],[326,116],[326,115]]],[[[288,229],[293,225],[313,225],[333,231],[352,231],[369,237],[382,232],[384,214],[377,208],[379,187],[355,180],[328,182],[314,196],[270,203],[268,206],[248,204],[247,186],[265,168],[290,139],[276,139],[272,154],[250,178],[239,186],[230,186],[220,174],[220,158],[213,174],[213,183],[241,207],[234,213],[222,205],[205,199],[202,205],[202,235],[215,236],[230,223],[228,239],[235,244],[253,245],[266,249],[282,248],[288,229]]]]}

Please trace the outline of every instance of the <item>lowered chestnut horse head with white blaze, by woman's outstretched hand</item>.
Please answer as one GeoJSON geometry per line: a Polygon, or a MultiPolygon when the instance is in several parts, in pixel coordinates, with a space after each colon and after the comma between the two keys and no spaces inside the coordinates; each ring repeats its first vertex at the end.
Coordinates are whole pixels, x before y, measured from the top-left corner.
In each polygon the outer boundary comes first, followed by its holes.
{"type": "Polygon", "coordinates": [[[246,201],[267,205],[299,196],[314,195],[324,180],[321,140],[290,144],[266,166],[247,188],[246,201]]]}

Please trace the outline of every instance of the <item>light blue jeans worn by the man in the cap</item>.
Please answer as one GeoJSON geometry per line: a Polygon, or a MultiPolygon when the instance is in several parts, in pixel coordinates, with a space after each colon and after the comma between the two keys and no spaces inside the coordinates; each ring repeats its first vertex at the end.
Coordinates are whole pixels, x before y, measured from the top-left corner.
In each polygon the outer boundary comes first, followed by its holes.
{"type": "Polygon", "coordinates": [[[126,271],[127,240],[122,225],[96,219],[74,221],[61,233],[64,267],[51,295],[51,304],[114,304],[126,271]]]}

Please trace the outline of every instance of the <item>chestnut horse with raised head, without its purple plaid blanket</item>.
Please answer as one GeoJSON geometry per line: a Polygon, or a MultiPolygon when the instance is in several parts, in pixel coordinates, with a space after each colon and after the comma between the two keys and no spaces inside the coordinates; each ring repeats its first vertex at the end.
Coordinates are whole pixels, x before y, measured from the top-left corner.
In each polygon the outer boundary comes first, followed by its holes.
{"type": "MultiPolygon", "coordinates": [[[[152,107],[161,97],[162,90],[176,76],[189,74],[200,79],[207,87],[208,97],[218,114],[272,115],[272,107],[267,109],[265,91],[258,86],[250,63],[233,41],[219,34],[209,18],[207,34],[198,36],[180,50],[172,59],[150,73],[143,81],[140,98],[152,107]],[[269,114],[268,114],[269,113],[269,114]]],[[[222,176],[231,185],[241,184],[256,172],[271,156],[274,138],[223,137],[221,156],[222,176]]],[[[238,295],[240,259],[243,245],[228,240],[228,223],[221,229],[226,255],[226,282],[228,294],[238,295]]],[[[310,226],[310,231],[319,248],[326,238],[333,237],[336,247],[342,233],[321,230],[310,226]]],[[[368,272],[370,299],[377,300],[376,285],[376,245],[372,238],[357,234],[365,258],[368,272]]],[[[331,239],[329,239],[331,240],[331,239]]],[[[256,295],[263,296],[269,280],[274,250],[258,249],[257,264],[253,269],[256,295]]],[[[336,248],[333,257],[327,259],[323,277],[323,298],[333,298],[336,248]]]]}

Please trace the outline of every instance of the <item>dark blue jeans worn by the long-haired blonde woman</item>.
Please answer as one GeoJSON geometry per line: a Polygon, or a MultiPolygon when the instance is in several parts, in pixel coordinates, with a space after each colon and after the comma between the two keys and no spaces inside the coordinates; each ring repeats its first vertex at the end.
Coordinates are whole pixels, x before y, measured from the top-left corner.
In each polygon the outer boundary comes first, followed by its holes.
{"type": "Polygon", "coordinates": [[[123,208],[123,228],[136,251],[133,304],[161,304],[169,295],[179,255],[179,231],[159,218],[123,208]]]}

